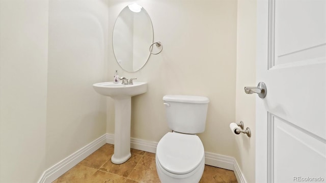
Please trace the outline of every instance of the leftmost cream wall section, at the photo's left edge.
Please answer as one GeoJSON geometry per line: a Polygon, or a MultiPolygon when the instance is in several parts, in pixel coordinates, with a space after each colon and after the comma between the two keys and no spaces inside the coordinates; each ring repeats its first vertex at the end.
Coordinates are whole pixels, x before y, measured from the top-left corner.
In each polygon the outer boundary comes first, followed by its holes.
{"type": "Polygon", "coordinates": [[[47,1],[0,1],[0,182],[45,168],[47,30],[47,1]]]}

